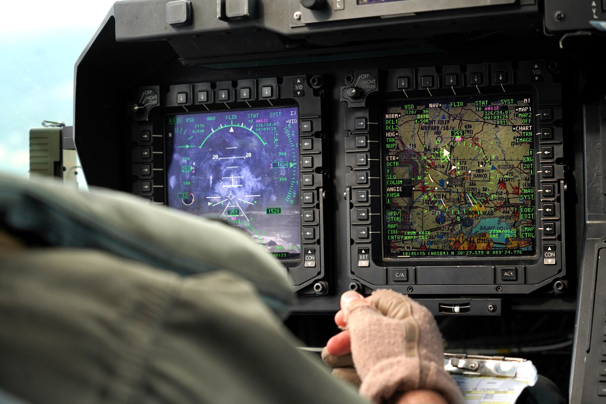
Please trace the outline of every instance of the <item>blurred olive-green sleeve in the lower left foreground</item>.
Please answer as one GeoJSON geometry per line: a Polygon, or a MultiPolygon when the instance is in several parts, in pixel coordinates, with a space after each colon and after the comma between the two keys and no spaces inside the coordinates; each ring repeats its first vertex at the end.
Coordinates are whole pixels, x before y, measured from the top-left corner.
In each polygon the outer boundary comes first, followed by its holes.
{"type": "Polygon", "coordinates": [[[231,272],[69,248],[0,269],[0,387],[32,404],[365,403],[231,272]]]}

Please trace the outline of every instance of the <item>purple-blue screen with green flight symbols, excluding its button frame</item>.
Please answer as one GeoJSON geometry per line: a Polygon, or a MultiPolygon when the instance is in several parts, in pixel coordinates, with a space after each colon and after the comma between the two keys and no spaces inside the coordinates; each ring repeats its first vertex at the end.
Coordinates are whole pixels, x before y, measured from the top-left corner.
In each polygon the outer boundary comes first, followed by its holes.
{"type": "Polygon", "coordinates": [[[168,205],[241,227],[283,260],[301,256],[298,109],[166,117],[168,205]]]}

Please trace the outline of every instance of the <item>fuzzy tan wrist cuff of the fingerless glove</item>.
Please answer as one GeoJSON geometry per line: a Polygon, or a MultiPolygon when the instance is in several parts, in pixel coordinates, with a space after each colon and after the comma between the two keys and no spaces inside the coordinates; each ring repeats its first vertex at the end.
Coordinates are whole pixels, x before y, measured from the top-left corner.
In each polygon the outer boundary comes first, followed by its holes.
{"type": "Polygon", "coordinates": [[[396,391],[430,389],[439,392],[450,404],[463,404],[458,386],[444,368],[419,358],[394,357],[375,365],[360,386],[361,396],[373,403],[388,400],[396,391]]]}

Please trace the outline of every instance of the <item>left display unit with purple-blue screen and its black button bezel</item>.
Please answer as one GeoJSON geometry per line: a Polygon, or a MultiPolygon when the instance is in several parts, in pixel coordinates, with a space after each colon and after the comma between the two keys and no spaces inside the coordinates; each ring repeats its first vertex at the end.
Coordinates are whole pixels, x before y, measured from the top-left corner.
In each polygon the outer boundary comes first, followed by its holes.
{"type": "Polygon", "coordinates": [[[316,281],[329,284],[318,82],[139,87],[128,103],[133,194],[241,228],[281,260],[296,290],[316,294],[316,281]]]}

